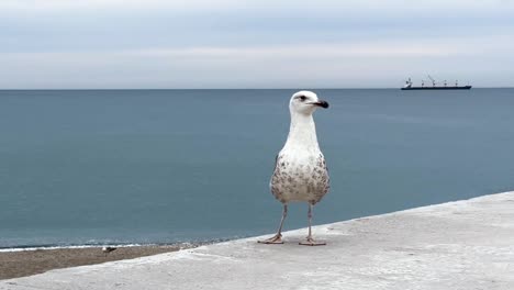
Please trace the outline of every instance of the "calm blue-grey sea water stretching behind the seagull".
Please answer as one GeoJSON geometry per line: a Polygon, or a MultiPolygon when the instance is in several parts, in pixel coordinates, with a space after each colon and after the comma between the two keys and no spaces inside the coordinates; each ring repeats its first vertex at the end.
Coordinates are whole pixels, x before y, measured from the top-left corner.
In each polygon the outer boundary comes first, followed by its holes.
{"type": "MultiPolygon", "coordinates": [[[[0,247],[273,232],[293,92],[0,91],[0,247]]],[[[514,189],[514,89],[316,92],[317,224],[514,189]]],[[[286,227],[305,225],[293,204],[286,227]]]]}

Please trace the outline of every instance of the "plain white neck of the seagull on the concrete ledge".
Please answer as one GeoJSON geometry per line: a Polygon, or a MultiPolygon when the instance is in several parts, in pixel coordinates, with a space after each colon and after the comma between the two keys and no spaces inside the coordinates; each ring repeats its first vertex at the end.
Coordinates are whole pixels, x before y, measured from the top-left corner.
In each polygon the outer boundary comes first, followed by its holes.
{"type": "Polygon", "coordinates": [[[305,149],[319,152],[320,145],[316,137],[316,125],[312,114],[291,112],[291,126],[284,149],[305,149]]]}

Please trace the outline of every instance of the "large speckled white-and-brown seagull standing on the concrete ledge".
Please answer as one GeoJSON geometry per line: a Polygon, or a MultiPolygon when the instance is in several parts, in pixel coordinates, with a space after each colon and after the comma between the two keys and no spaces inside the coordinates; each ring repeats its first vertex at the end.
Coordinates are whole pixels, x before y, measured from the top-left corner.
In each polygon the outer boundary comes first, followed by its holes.
{"type": "Polygon", "coordinates": [[[289,101],[291,126],[286,145],[277,155],[275,171],[269,182],[271,193],[283,204],[282,219],[275,236],[258,241],[261,244],[283,244],[282,225],[288,214],[288,203],[309,203],[309,235],[300,245],[326,245],[312,237],[312,208],[329,189],[328,170],[325,157],[317,144],[316,127],[312,114],[317,108],[328,108],[312,91],[299,91],[289,101]]]}

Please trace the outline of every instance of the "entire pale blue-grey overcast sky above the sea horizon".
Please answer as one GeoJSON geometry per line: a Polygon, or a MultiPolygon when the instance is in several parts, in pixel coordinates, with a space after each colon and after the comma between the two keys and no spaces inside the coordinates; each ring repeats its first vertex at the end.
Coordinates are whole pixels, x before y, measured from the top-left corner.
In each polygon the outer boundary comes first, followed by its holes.
{"type": "Polygon", "coordinates": [[[0,89],[514,87],[514,0],[1,0],[0,89]]]}

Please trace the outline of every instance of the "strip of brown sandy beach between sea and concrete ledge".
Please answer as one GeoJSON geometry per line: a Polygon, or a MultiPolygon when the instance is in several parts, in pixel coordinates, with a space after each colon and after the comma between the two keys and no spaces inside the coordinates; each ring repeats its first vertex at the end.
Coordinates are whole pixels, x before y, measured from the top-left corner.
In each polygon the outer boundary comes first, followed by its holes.
{"type": "Polygon", "coordinates": [[[104,254],[101,247],[2,252],[0,253],[0,279],[31,276],[58,268],[132,259],[179,249],[179,246],[131,246],[119,247],[109,254],[104,254]]]}

